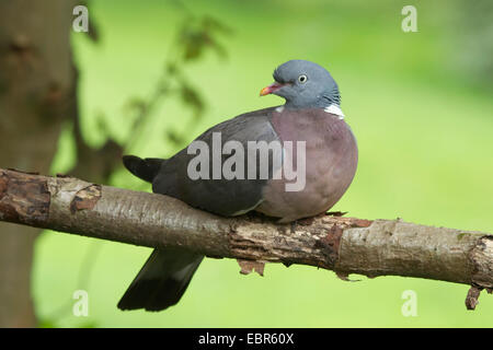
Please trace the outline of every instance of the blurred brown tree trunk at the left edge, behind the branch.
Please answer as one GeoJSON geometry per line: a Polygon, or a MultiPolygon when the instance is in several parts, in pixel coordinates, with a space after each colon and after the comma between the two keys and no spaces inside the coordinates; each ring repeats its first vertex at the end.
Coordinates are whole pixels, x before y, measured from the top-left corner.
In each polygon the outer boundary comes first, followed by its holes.
{"type": "MultiPolygon", "coordinates": [[[[73,117],[73,2],[0,1],[0,165],[49,172],[60,125],[73,117]]],[[[37,229],[0,223],[0,327],[34,327],[37,229]]]]}

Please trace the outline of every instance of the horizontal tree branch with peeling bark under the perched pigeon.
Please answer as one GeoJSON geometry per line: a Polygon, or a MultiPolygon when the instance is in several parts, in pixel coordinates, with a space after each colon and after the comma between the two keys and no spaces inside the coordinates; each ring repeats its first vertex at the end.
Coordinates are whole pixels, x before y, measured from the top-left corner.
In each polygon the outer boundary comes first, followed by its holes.
{"type": "Polygon", "coordinates": [[[0,168],[0,220],[236,258],[242,272],[262,273],[262,264],[252,261],[270,261],[316,266],[343,279],[393,275],[465,283],[471,310],[482,289],[493,289],[493,235],[399,219],[324,214],[293,226],[261,215],[221,218],[162,195],[0,168]]]}

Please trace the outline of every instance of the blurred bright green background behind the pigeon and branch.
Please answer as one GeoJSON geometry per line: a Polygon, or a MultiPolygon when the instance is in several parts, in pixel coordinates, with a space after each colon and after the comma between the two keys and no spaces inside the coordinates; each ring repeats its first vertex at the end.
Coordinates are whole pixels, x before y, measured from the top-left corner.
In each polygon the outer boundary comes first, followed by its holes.
{"type": "MultiPolygon", "coordinates": [[[[289,59],[324,66],[358,140],[355,180],[333,210],[367,219],[491,232],[493,228],[493,14],[489,1],[172,1],[95,0],[96,43],[72,34],[87,141],[122,143],[134,128],[129,102],[149,98],[176,55],[173,40],[191,13],[227,30],[219,49],[183,66],[204,102],[200,117],[177,95],[161,98],[126,151],[169,156],[206,128],[280,104],[260,98],[275,67],[289,59]],[[473,4],[474,3],[474,4],[473,4]],[[417,9],[417,33],[401,30],[403,5],[417,9]],[[190,11],[190,12],[188,12],[190,11]],[[221,54],[222,52],[222,54],[221,54]],[[226,52],[226,55],[225,55],[226,52]],[[220,54],[220,55],[217,55],[220,54]],[[102,127],[103,126],[103,127],[102,127]],[[165,137],[172,130],[182,140],[165,137]]],[[[53,173],[74,162],[70,126],[53,173]]],[[[146,189],[125,171],[110,184],[146,189]]],[[[331,271],[267,265],[241,276],[230,259],[206,259],[177,306],[121,312],[116,303],[151,249],[45,232],[33,273],[36,313],[62,327],[492,327],[493,296],[465,307],[467,285],[379,277],[345,282],[331,271]],[[71,313],[72,293],[89,292],[89,317],[71,313]],[[404,317],[405,290],[417,316],[404,317]]]]}

